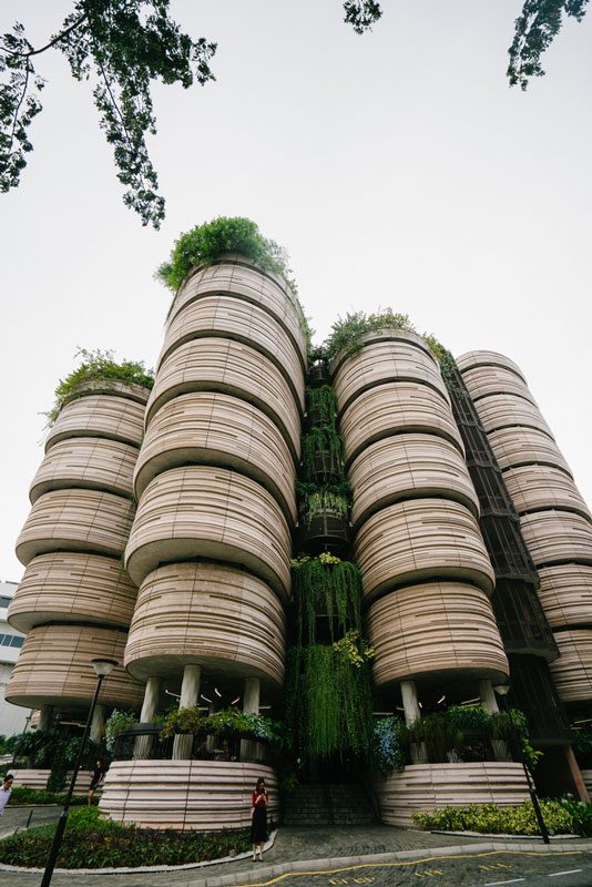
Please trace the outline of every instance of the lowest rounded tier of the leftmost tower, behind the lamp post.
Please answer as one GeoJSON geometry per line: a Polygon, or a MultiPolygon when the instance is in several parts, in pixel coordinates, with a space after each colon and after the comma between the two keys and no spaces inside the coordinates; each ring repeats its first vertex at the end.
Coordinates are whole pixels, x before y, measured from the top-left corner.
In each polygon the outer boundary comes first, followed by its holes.
{"type": "MultiPolygon", "coordinates": [[[[88,708],[96,687],[93,659],[123,663],[126,632],[89,625],[39,625],[27,635],[10,675],[6,699],[14,705],[40,708],[88,708]]],[[[100,703],[139,707],[144,695],[120,664],[105,677],[100,703]]]]}

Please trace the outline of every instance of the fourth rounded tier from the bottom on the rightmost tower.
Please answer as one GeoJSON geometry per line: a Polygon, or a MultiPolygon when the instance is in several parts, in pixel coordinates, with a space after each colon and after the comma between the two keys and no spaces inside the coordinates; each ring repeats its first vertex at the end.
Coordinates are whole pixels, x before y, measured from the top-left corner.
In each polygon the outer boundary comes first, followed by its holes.
{"type": "Polygon", "coordinates": [[[503,480],[519,514],[557,508],[573,511],[592,521],[578,487],[558,468],[545,465],[511,468],[504,472],[503,480]]]}

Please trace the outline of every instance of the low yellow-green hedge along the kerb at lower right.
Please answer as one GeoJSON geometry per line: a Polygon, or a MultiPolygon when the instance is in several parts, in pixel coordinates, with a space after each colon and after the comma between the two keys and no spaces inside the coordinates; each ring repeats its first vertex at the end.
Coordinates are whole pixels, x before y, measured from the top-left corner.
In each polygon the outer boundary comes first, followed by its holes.
{"type": "MultiPolygon", "coordinates": [[[[576,820],[570,804],[564,801],[540,801],[541,813],[551,833],[567,835],[576,832],[584,817],[576,820]]],[[[592,809],[592,805],[585,807],[592,809]]],[[[419,828],[445,832],[480,832],[488,835],[539,835],[539,824],[531,801],[516,807],[497,804],[470,804],[466,807],[443,807],[432,813],[414,813],[419,828]]],[[[590,834],[588,832],[586,834],[590,834]]]]}

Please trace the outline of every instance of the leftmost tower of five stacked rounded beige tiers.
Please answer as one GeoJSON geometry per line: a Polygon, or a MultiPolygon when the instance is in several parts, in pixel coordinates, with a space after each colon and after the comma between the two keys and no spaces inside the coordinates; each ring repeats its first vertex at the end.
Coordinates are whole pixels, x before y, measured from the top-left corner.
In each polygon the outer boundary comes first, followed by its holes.
{"type": "Polygon", "coordinates": [[[91,703],[95,657],[118,661],[104,682],[93,725],[105,707],[137,707],[143,687],[126,674],[123,654],[137,589],[123,567],[132,526],[133,471],[149,390],[118,381],[79,386],[45,442],[30,489],[31,512],[17,541],[25,565],[9,608],[27,632],[7,699],[80,717],[91,703]]]}

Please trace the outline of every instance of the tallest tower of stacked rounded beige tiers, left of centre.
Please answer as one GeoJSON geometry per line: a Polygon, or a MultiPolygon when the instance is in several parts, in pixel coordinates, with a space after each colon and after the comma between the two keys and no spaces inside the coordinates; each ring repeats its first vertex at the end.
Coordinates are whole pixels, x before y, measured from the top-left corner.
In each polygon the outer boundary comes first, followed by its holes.
{"type": "Polygon", "coordinates": [[[143,721],[164,684],[182,706],[243,696],[247,711],[282,686],[303,319],[286,284],[241,256],[197,268],[174,299],[125,555],[140,587],[125,665],[149,684],[143,721]]]}

